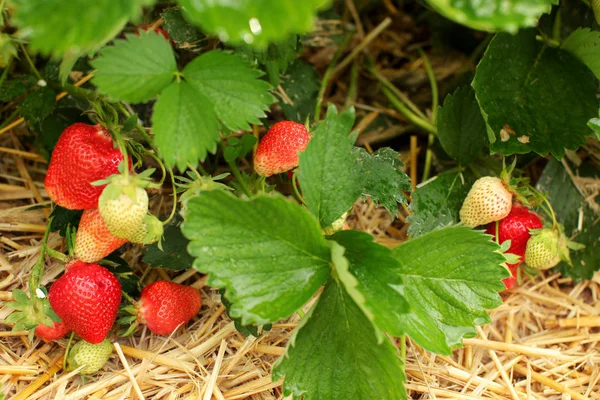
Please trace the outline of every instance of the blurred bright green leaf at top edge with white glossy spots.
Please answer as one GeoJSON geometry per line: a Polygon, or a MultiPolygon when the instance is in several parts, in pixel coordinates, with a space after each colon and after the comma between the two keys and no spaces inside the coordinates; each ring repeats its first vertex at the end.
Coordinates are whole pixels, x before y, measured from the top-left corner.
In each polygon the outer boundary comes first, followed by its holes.
{"type": "Polygon", "coordinates": [[[264,48],[292,33],[313,29],[317,11],[329,0],[180,0],[186,16],[223,42],[264,48]]]}

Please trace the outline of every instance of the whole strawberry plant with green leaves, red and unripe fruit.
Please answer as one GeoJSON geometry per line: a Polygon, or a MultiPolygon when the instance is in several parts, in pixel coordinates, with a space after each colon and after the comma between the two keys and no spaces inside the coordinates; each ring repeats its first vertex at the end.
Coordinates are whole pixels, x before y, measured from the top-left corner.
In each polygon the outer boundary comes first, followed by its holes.
{"type": "Polygon", "coordinates": [[[14,292],[7,322],[81,337],[67,360],[83,373],[138,325],[172,334],[202,312],[201,293],[119,269],[119,248],[140,246],[146,264],[204,274],[244,334],[301,316],[273,364],[283,395],[406,399],[407,337],[451,354],[523,275],[600,270],[588,184],[600,165],[600,30],[562,22],[571,7],[597,15],[598,2],[409,2],[487,32],[468,30],[476,65],[443,85],[429,45],[406,50],[426,96],[407,95],[384,73],[387,56],[368,50],[399,22],[383,18],[354,49],[359,16],[315,38],[318,21],[355,12],[342,3],[0,2],[0,132],[27,123],[52,200],[29,293],[14,292]],[[319,59],[316,39],[337,49],[321,74],[306,62],[319,59]],[[376,112],[358,87],[377,93],[376,112]],[[398,121],[415,138],[409,170],[400,133],[377,139],[386,146],[363,132],[398,121]],[[346,229],[357,201],[402,220],[402,243],[346,229]],[[68,255],[47,248],[51,231],[68,255]],[[47,298],[46,255],[66,264],[47,298]]]}

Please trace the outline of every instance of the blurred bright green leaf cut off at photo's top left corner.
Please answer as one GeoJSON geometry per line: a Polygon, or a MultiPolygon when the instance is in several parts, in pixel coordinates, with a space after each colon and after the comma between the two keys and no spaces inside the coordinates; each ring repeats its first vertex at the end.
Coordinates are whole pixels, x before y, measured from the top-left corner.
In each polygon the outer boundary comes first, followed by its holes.
{"type": "Polygon", "coordinates": [[[46,55],[85,53],[115,37],[155,0],[11,0],[19,34],[46,55]]]}

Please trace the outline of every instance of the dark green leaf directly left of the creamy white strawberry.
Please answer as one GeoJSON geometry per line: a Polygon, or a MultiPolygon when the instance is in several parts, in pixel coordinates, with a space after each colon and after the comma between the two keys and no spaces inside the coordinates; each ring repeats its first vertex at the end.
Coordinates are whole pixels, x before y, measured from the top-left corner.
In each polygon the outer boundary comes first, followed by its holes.
{"type": "Polygon", "coordinates": [[[459,172],[439,174],[418,186],[408,207],[411,214],[408,235],[416,237],[434,229],[459,222],[459,211],[472,182],[459,172]]]}

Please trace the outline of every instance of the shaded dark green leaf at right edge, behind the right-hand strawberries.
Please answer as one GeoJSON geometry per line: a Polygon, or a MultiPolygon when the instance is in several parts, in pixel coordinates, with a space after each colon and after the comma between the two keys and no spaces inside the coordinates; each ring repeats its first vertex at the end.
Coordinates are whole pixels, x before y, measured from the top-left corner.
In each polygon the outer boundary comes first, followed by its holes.
{"type": "MultiPolygon", "coordinates": [[[[580,176],[579,171],[573,171],[573,173],[580,176]]],[[[559,161],[550,160],[536,187],[548,196],[556,218],[563,224],[567,237],[585,245],[582,250],[571,251],[573,267],[563,262],[559,264],[558,269],[563,275],[577,281],[591,279],[594,272],[600,269],[598,216],[587,205],[567,170],[559,161]],[[582,213],[581,231],[579,231],[580,213],[582,213]]]]}

